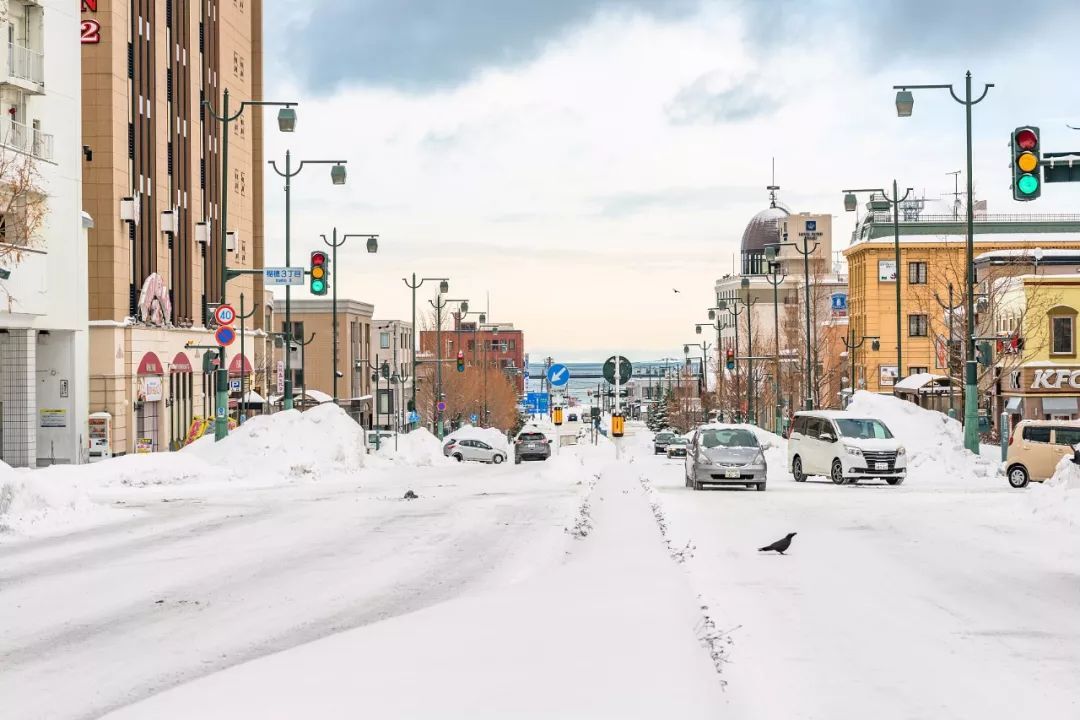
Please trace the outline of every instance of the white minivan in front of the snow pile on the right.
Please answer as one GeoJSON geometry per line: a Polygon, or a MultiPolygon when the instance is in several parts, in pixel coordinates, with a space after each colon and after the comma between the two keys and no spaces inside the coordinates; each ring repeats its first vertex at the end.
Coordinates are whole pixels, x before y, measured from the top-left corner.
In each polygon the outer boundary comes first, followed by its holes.
{"type": "Polygon", "coordinates": [[[796,483],[823,475],[837,485],[873,477],[900,485],[907,475],[907,451],[889,427],[846,410],[796,412],[787,462],[796,483]]]}

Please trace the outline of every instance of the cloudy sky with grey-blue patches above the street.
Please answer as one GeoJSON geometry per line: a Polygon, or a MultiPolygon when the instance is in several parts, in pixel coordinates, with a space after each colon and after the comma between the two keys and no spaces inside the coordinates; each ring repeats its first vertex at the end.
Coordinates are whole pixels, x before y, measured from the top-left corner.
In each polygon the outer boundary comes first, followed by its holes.
{"type": "MultiPolygon", "coordinates": [[[[294,259],[335,226],[380,233],[376,256],[341,250],[339,297],[407,318],[401,279],[448,275],[534,357],[680,355],[773,157],[786,205],[837,216],[836,248],[843,187],[950,192],[963,108],[922,91],[899,119],[896,83],[996,83],[974,111],[976,198],[1080,212],[1080,186],[1014,202],[1007,147],[1030,123],[1045,150],[1080,149],[1080,63],[1052,40],[1076,2],[265,0],[265,96],[300,101],[295,135],[268,118],[268,158],[349,161],[343,188],[318,166],[294,180],[294,259]]],[[[269,176],[268,262],[281,190],[269,176]]]]}

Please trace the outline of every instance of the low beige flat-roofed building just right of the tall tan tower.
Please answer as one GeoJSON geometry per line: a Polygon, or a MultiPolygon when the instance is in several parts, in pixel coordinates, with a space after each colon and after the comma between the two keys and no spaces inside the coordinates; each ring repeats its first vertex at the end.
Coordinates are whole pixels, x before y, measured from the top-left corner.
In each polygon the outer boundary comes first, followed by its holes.
{"type": "MultiPolygon", "coordinates": [[[[372,426],[372,316],[375,305],[338,298],[338,404],[364,427],[372,426]]],[[[274,302],[278,330],[285,330],[285,299],[274,302]]],[[[289,369],[294,397],[307,393],[309,403],[334,397],[334,313],[329,298],[293,299],[294,347],[289,369]],[[309,344],[300,345],[303,339],[309,344]]]]}

